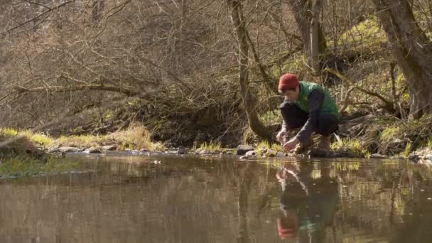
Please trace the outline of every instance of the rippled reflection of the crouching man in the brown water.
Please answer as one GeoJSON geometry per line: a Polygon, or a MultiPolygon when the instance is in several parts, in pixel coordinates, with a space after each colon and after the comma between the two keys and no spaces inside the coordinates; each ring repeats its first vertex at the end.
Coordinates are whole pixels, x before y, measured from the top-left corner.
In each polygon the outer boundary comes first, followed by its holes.
{"type": "Polygon", "coordinates": [[[324,241],[325,229],[333,225],[338,203],[337,180],[330,178],[329,166],[320,163],[320,176],[312,175],[313,163],[286,164],[277,171],[282,186],[283,215],[277,220],[281,239],[324,241]]]}

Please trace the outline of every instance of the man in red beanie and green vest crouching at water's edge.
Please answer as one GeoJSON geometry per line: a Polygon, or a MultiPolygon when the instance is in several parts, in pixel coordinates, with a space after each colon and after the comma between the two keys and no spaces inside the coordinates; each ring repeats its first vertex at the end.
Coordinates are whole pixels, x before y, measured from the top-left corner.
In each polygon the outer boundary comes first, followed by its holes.
{"type": "Polygon", "coordinates": [[[282,142],[288,136],[287,131],[301,128],[296,136],[283,143],[284,150],[291,151],[300,144],[294,153],[308,151],[315,132],[321,135],[318,149],[329,152],[330,134],[338,130],[340,114],[328,91],[316,83],[298,81],[291,73],[280,77],[278,90],[285,99],[279,105],[284,121],[276,139],[282,142]]]}

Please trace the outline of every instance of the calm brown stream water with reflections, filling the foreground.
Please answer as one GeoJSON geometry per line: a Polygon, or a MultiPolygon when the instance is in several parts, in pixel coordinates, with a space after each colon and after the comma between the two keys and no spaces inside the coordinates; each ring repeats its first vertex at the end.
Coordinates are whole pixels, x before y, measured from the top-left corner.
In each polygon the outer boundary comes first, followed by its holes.
{"type": "Polygon", "coordinates": [[[0,242],[432,242],[432,171],[405,161],[73,158],[0,180],[0,242]]]}

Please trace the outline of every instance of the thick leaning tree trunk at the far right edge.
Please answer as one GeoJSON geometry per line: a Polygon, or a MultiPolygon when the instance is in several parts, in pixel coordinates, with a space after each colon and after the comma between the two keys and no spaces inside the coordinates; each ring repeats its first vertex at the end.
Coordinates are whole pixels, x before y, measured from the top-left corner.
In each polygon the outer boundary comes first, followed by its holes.
{"type": "Polygon", "coordinates": [[[408,0],[373,0],[377,16],[409,87],[409,117],[432,112],[432,42],[414,19],[408,0]]]}

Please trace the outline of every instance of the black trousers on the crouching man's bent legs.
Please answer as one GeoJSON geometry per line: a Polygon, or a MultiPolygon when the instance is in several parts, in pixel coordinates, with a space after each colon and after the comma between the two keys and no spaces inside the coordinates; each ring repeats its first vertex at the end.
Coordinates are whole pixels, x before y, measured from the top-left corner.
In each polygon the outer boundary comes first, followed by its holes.
{"type": "MultiPolygon", "coordinates": [[[[280,108],[289,130],[303,127],[309,118],[309,114],[303,112],[294,102],[284,102],[280,108]]],[[[339,119],[334,114],[320,112],[318,119],[315,119],[312,123],[313,132],[323,136],[330,136],[333,132],[338,131],[339,119]]]]}

